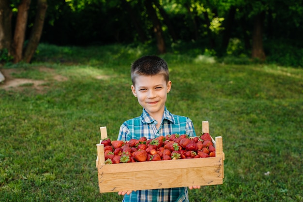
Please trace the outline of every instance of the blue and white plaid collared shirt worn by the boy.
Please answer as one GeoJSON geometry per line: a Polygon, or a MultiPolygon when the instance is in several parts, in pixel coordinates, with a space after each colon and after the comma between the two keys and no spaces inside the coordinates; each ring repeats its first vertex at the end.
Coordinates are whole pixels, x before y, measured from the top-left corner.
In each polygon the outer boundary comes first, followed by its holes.
{"type": "MultiPolygon", "coordinates": [[[[190,118],[173,115],[166,107],[158,130],[156,125],[157,121],[143,109],[141,116],[129,119],[121,125],[118,140],[129,141],[143,136],[153,139],[167,134],[196,136],[190,118]]],[[[125,194],[122,202],[188,202],[188,190],[186,187],[137,190],[130,195],[125,194]]]]}

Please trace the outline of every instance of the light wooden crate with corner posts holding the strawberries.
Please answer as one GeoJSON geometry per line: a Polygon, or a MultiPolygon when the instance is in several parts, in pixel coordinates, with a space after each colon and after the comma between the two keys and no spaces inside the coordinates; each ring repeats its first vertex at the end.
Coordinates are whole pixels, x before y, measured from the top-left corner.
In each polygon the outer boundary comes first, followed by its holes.
{"type": "MultiPolygon", "coordinates": [[[[107,137],[106,127],[101,127],[100,131],[96,160],[100,193],[223,184],[224,152],[221,136],[215,137],[215,141],[212,139],[216,157],[105,164],[101,141],[107,137]]],[[[202,122],[202,132],[209,133],[208,121],[202,122]]]]}

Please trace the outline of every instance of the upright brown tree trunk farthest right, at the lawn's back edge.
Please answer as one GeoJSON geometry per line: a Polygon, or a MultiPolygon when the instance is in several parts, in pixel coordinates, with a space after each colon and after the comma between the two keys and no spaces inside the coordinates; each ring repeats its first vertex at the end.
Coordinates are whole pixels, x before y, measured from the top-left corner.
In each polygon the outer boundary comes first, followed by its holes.
{"type": "Polygon", "coordinates": [[[265,53],[263,50],[263,24],[265,12],[258,14],[254,19],[253,29],[253,44],[252,44],[252,58],[258,58],[261,61],[265,60],[265,53]]]}

